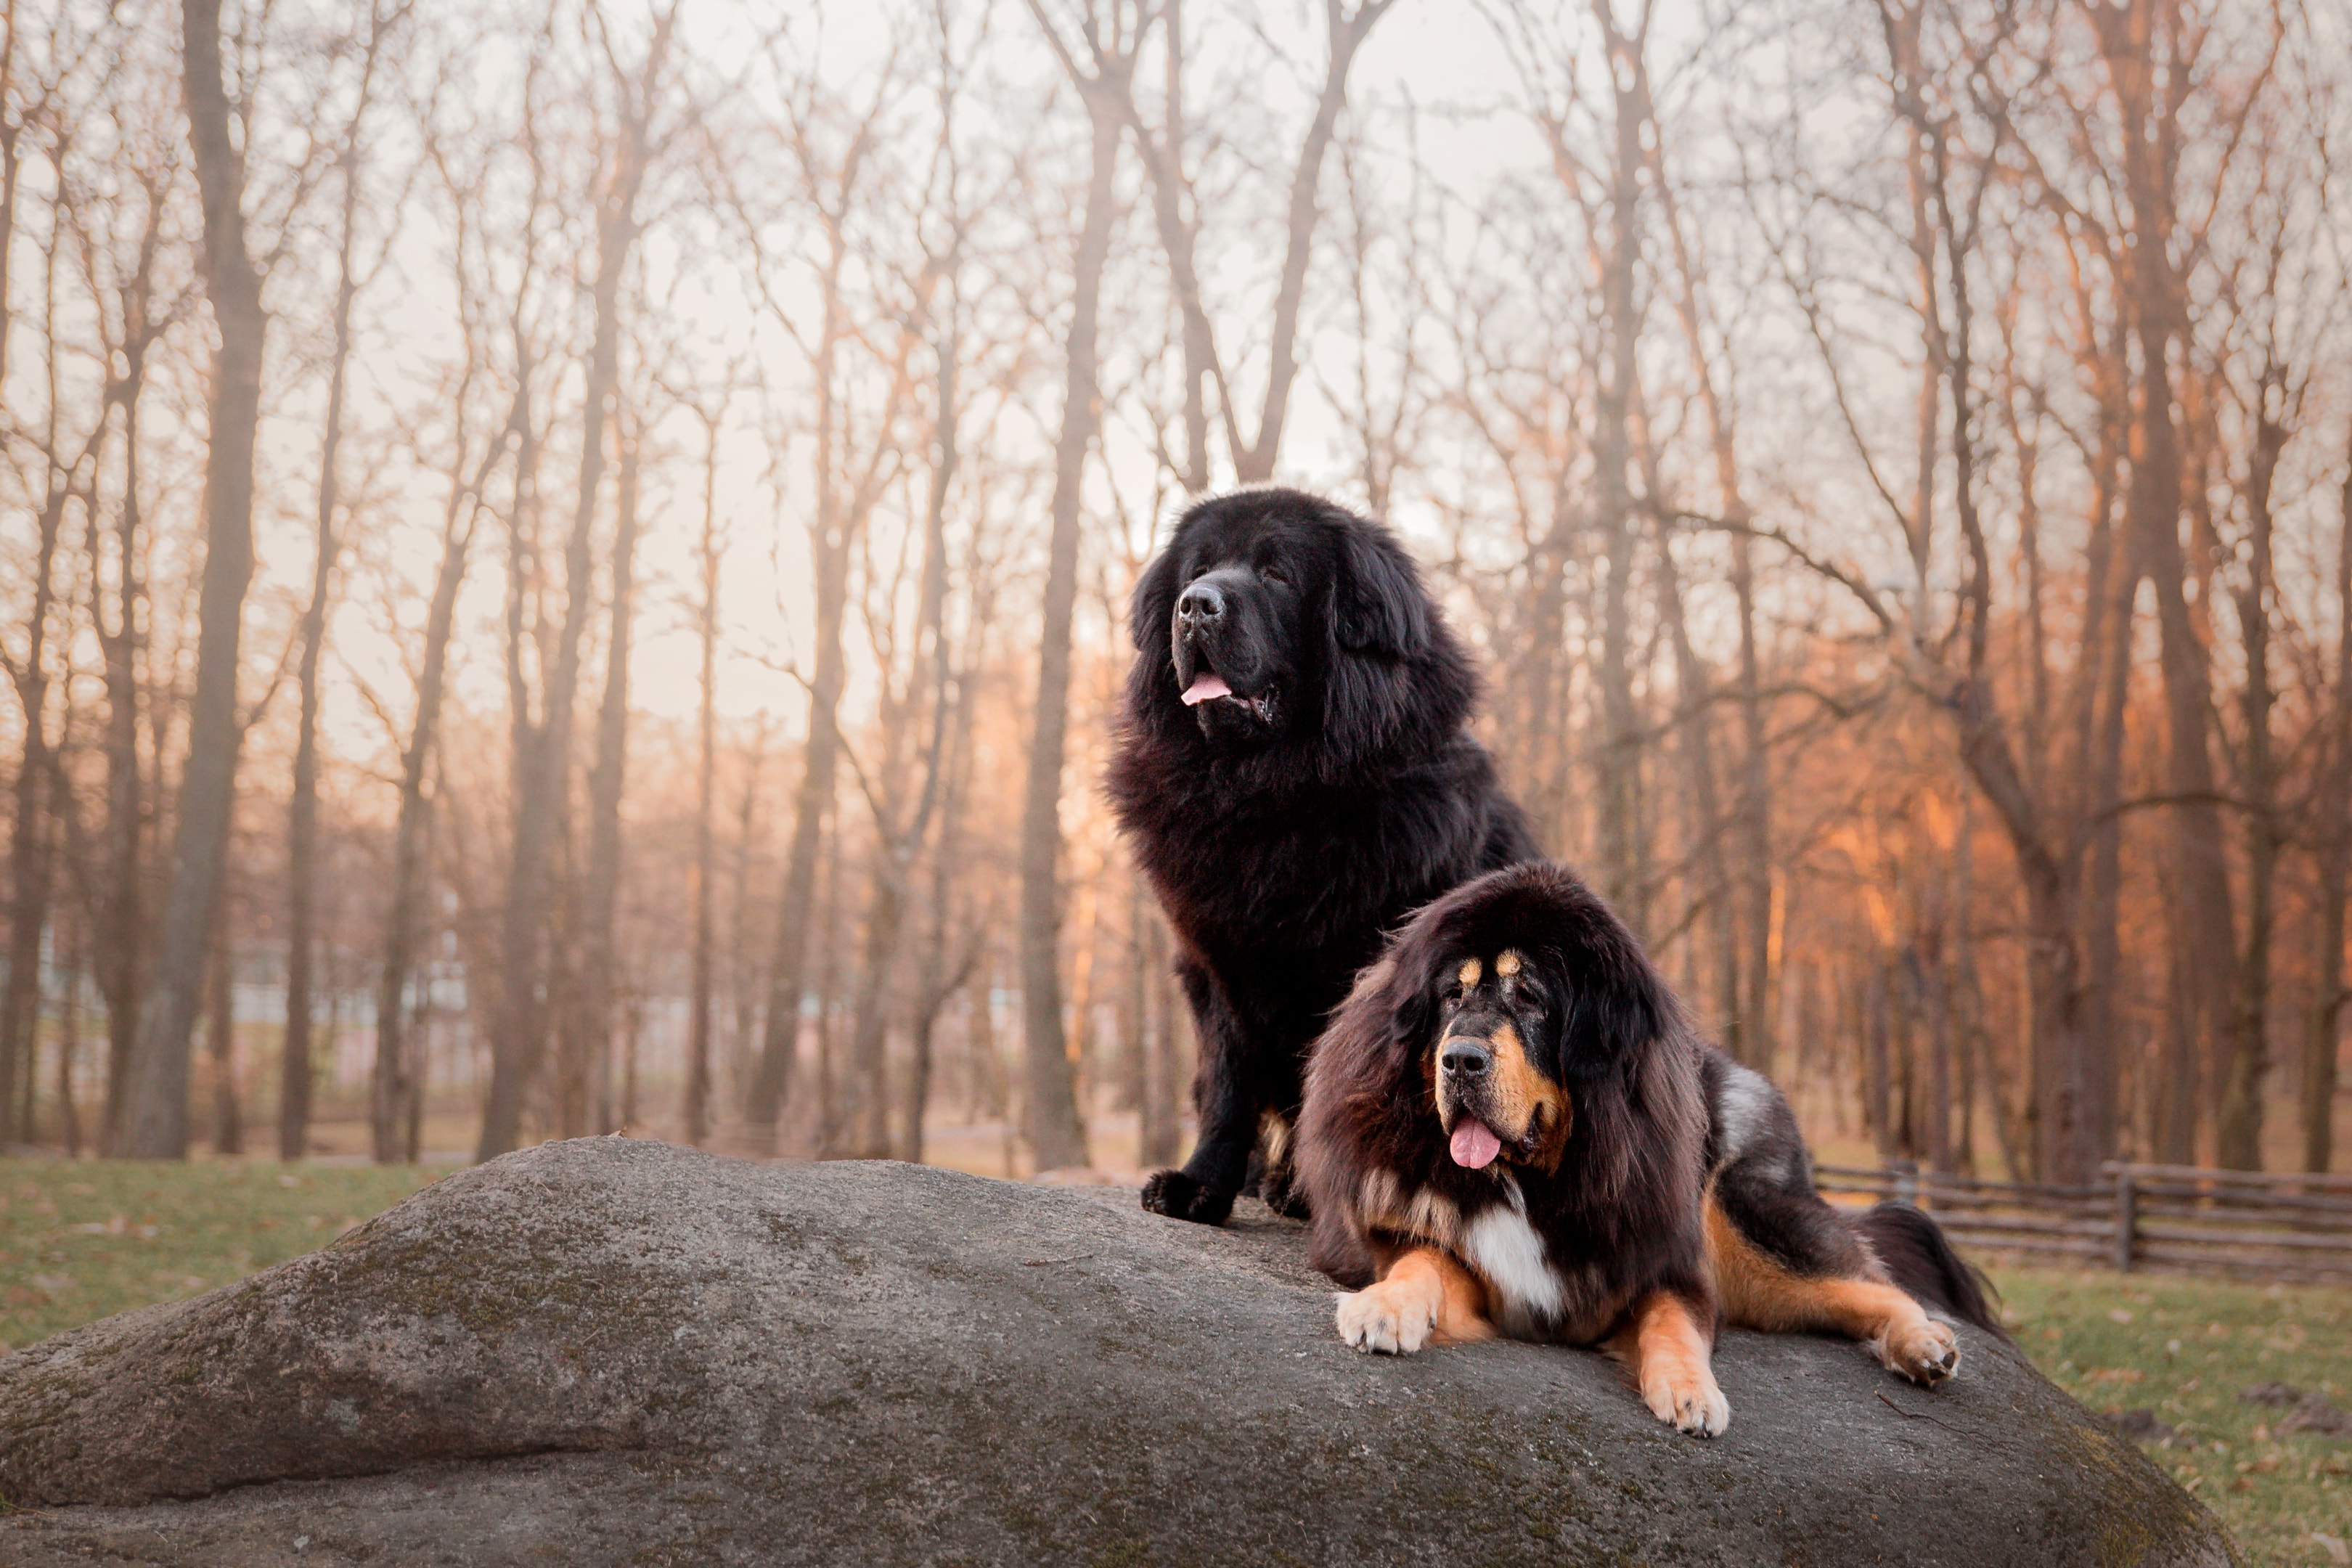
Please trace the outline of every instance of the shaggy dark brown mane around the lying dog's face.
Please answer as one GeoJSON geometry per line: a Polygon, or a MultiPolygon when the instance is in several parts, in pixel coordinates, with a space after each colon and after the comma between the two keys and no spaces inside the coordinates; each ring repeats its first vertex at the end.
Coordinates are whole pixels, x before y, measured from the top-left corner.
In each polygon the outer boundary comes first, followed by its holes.
{"type": "Polygon", "coordinates": [[[1684,1298],[1712,1324],[1700,1225],[1703,1060],[1639,943],[1569,872],[1515,865],[1446,893],[1404,926],[1315,1051],[1298,1124],[1315,1267],[1364,1286],[1383,1246],[1461,1251],[1484,1215],[1517,1211],[1543,1239],[1559,1284],[1557,1312],[1522,1316],[1519,1333],[1590,1345],[1653,1291],[1684,1298]],[[1548,1027],[1522,1027],[1534,1034],[1526,1056],[1536,1070],[1571,1098],[1550,1173],[1454,1164],[1432,1110],[1442,978],[1465,954],[1503,947],[1526,954],[1559,999],[1548,1027]],[[1421,1192],[1442,1204],[1416,1206],[1421,1192]]]}

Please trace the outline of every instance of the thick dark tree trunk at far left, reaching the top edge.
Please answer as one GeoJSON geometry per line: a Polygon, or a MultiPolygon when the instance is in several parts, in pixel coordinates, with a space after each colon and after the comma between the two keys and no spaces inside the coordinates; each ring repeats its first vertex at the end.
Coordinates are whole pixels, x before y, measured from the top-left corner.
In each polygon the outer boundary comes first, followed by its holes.
{"type": "Polygon", "coordinates": [[[139,1009],[118,1154],[188,1157],[188,1034],[205,978],[207,926],[235,813],[238,646],[254,576],[254,428],[261,416],[261,273],[245,249],[245,155],[221,85],[221,0],[186,0],[181,59],[195,183],[205,205],[205,296],[219,331],[205,458],[205,569],[198,592],[195,701],[179,832],[155,976],[139,1009]]]}

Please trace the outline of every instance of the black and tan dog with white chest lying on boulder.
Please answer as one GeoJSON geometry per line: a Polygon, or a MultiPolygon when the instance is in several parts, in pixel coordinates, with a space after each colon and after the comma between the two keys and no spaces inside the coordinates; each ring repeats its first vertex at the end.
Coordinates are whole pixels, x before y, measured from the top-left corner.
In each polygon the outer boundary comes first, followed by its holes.
{"type": "Polygon", "coordinates": [[[1298,1168],[1315,1265],[1359,1286],[1350,1345],[1606,1345],[1693,1436],[1731,1420],[1717,1316],[1844,1333],[1924,1385],[1959,1345],[1922,1302],[2002,1335],[1931,1218],[1820,1199],[1780,1091],[1555,865],[1446,893],[1364,973],[1315,1046],[1298,1168]]]}

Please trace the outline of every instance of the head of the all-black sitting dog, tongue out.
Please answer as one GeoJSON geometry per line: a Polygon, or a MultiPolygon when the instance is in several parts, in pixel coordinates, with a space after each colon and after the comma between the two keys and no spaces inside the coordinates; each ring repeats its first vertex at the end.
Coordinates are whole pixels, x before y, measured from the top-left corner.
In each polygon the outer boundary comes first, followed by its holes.
{"type": "Polygon", "coordinates": [[[1428,708],[1402,689],[1411,668],[1461,686],[1446,722],[1470,698],[1468,663],[1395,534],[1294,489],[1188,510],[1136,581],[1129,630],[1145,656],[1136,698],[1188,715],[1218,750],[1378,741],[1428,708]]]}

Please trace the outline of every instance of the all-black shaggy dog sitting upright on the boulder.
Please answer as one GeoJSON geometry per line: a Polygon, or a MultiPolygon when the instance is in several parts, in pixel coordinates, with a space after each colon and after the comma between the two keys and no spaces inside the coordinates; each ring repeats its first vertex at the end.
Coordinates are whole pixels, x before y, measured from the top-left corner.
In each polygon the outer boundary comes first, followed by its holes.
{"type": "Polygon", "coordinates": [[[1298,1211],[1308,1046],[1383,933],[1538,853],[1463,731],[1477,675],[1381,524],[1289,489],[1195,505],[1136,583],[1110,799],[1176,931],[1200,1032],[1200,1145],[1143,1206],[1298,1211]]]}

